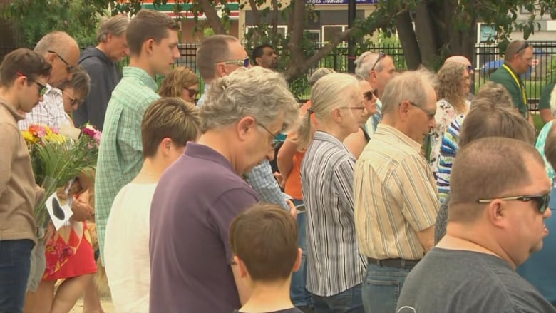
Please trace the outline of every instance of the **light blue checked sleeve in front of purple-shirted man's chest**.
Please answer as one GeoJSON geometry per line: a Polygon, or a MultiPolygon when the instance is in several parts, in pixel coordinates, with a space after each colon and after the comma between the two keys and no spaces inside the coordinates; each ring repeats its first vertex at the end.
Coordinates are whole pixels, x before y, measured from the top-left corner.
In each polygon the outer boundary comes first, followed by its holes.
{"type": "Polygon", "coordinates": [[[255,166],[251,170],[249,173],[249,183],[257,195],[259,195],[260,201],[281,205],[284,209],[289,210],[289,205],[287,205],[284,197],[282,197],[280,186],[274,179],[274,175],[272,175],[272,168],[268,160],[265,159],[260,165],[255,166]]]}

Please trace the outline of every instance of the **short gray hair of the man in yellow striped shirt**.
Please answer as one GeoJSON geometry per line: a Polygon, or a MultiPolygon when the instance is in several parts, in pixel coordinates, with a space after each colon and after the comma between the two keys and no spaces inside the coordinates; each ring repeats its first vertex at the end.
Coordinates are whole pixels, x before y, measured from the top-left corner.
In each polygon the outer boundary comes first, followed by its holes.
{"type": "Polygon", "coordinates": [[[428,100],[426,86],[436,87],[436,76],[426,68],[394,76],[381,97],[382,113],[393,112],[403,101],[411,101],[422,108],[428,100]]]}

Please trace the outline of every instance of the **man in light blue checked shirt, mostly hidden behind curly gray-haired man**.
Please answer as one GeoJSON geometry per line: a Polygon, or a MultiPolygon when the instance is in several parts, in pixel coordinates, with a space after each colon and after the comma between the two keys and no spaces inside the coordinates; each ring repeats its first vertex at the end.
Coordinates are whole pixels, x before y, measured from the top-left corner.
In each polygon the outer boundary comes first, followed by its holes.
{"type": "MultiPolygon", "coordinates": [[[[215,35],[202,41],[197,50],[197,67],[202,79],[205,80],[205,93],[197,101],[197,107],[201,107],[205,102],[205,95],[210,90],[210,83],[213,79],[230,75],[238,68],[249,68],[250,65],[247,52],[237,38],[215,35]]],[[[288,209],[293,204],[289,200],[285,200],[286,197],[282,194],[278,182],[274,179],[272,167],[269,163],[269,160],[272,159],[274,159],[274,155],[272,155],[272,158],[265,158],[259,165],[252,168],[251,172],[245,174],[247,174],[248,183],[257,192],[259,200],[282,205],[282,207],[288,209]]]]}

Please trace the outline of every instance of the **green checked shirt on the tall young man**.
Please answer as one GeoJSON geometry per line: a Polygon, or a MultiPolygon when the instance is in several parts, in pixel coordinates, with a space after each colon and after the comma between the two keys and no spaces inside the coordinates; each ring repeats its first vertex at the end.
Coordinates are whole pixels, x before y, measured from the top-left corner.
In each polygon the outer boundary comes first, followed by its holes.
{"type": "Polygon", "coordinates": [[[104,259],[104,234],[118,191],[138,175],[143,165],[141,121],[150,103],[160,98],[155,80],[141,68],[124,67],[104,118],[95,181],[98,247],[104,259]]]}

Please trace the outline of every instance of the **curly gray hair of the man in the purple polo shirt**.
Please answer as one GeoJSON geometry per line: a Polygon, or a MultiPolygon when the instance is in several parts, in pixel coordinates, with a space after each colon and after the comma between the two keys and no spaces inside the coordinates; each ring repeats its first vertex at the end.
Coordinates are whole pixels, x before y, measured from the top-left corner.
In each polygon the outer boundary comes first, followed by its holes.
{"type": "Polygon", "coordinates": [[[238,68],[213,81],[201,106],[201,131],[232,125],[244,116],[270,125],[284,116],[282,130],[297,122],[299,105],[282,74],[266,68],[238,68]]]}

